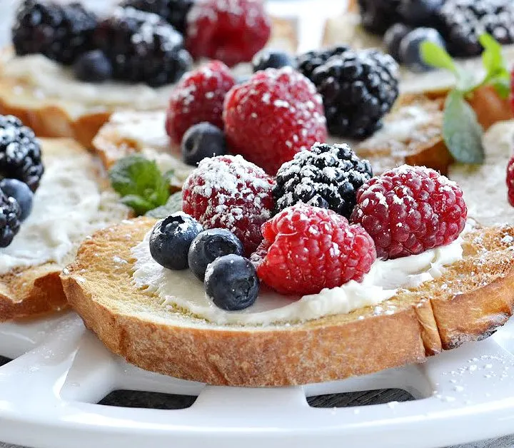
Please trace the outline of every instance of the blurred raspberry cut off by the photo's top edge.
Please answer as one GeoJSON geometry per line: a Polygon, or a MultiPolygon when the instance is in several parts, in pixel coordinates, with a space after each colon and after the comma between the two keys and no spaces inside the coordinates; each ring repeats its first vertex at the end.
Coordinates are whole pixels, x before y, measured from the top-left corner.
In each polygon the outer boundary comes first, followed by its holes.
{"type": "Polygon", "coordinates": [[[262,0],[201,0],[188,14],[186,48],[194,58],[228,66],[249,62],[269,39],[271,20],[262,0]]]}

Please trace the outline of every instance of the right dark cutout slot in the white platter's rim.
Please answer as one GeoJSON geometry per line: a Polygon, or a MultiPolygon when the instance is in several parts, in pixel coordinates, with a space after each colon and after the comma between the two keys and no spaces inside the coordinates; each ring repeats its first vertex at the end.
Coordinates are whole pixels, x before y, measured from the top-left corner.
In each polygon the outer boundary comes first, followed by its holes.
{"type": "Polygon", "coordinates": [[[385,404],[390,402],[410,402],[415,400],[412,394],[403,389],[365,390],[362,392],[341,392],[308,397],[311,407],[354,407],[385,404]]]}

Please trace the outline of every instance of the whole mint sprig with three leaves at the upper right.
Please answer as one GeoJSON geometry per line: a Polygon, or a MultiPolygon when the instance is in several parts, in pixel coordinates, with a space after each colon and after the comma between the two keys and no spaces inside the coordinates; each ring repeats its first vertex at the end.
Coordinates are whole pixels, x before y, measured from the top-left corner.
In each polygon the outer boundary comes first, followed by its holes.
{"type": "Polygon", "coordinates": [[[455,161],[463,163],[483,163],[484,160],[483,129],[465,98],[486,85],[493,86],[501,98],[507,98],[510,93],[510,74],[501,45],[490,34],[482,34],[479,40],[484,48],[482,63],[485,68],[485,74],[480,78],[460,68],[441,46],[428,41],[421,44],[421,57],[425,63],[455,75],[455,88],[445,101],[443,139],[455,161]]]}

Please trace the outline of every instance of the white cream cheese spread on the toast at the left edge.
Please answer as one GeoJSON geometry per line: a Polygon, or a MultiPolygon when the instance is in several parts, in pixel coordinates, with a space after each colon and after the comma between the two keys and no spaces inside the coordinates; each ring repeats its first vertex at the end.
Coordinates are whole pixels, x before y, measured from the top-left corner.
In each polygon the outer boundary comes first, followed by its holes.
{"type": "Polygon", "coordinates": [[[101,191],[101,169],[89,153],[46,156],[34,207],[18,235],[0,250],[0,275],[15,268],[68,263],[84,238],[111,222],[126,218],[127,209],[112,191],[101,191]]]}

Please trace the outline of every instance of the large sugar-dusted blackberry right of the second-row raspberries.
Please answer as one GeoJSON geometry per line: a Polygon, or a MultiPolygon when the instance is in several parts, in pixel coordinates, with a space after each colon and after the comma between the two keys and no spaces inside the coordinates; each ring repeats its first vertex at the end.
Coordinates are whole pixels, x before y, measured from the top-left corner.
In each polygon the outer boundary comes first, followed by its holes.
{"type": "Polygon", "coordinates": [[[362,139],[381,128],[398,97],[398,63],[375,49],[348,50],[316,68],[312,81],[323,97],[328,131],[362,139]]]}

